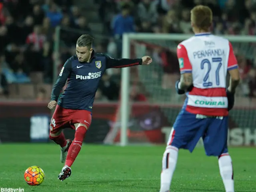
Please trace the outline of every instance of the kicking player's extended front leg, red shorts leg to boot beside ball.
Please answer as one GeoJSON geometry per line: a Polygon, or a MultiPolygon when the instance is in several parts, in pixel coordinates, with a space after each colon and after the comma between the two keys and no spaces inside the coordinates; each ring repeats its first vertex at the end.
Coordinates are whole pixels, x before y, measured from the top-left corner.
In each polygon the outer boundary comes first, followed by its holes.
{"type": "Polygon", "coordinates": [[[79,110],[75,113],[77,120],[72,120],[74,123],[74,128],[76,130],[74,141],[70,145],[68,149],[68,155],[66,158],[65,166],[62,168],[59,179],[63,181],[64,179],[68,178],[71,175],[71,166],[74,163],[78,153],[82,148],[82,143],[86,132],[91,124],[92,116],[91,113],[85,110],[79,110]]]}

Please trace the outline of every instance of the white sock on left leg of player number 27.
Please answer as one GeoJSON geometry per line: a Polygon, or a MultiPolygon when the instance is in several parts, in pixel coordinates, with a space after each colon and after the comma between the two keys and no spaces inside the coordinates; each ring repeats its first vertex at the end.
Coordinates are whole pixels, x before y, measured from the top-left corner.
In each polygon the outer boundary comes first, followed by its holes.
{"type": "Polygon", "coordinates": [[[178,148],[167,146],[162,160],[161,188],[160,192],[169,192],[172,175],[178,159],[178,148]]]}

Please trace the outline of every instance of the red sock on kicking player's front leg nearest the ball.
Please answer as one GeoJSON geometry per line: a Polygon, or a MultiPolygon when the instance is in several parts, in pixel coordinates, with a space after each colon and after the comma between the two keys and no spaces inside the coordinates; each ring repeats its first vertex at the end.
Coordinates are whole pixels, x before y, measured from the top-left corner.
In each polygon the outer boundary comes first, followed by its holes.
{"type": "Polygon", "coordinates": [[[71,167],[72,164],[74,163],[74,160],[76,159],[82,147],[82,143],[83,143],[86,131],[87,130],[84,126],[80,126],[77,128],[74,141],[72,142],[72,144],[68,149],[68,156],[66,158],[65,165],[71,167]]]}

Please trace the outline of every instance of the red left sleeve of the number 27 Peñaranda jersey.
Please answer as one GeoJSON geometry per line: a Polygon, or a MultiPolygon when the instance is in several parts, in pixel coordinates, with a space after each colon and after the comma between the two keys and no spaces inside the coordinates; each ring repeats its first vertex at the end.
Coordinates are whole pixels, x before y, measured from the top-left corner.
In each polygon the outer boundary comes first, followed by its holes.
{"type": "Polygon", "coordinates": [[[192,65],[188,59],[188,52],[182,44],[179,44],[177,47],[177,57],[180,65],[180,74],[191,73],[192,65]]]}

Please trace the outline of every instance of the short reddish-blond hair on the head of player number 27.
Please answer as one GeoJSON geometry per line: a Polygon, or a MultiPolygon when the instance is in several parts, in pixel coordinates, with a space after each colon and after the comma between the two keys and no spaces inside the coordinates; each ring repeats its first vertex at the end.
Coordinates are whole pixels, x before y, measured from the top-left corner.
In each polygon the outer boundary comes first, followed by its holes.
{"type": "Polygon", "coordinates": [[[208,30],[212,25],[212,10],[208,6],[195,6],[191,10],[191,21],[195,27],[208,30]]]}

